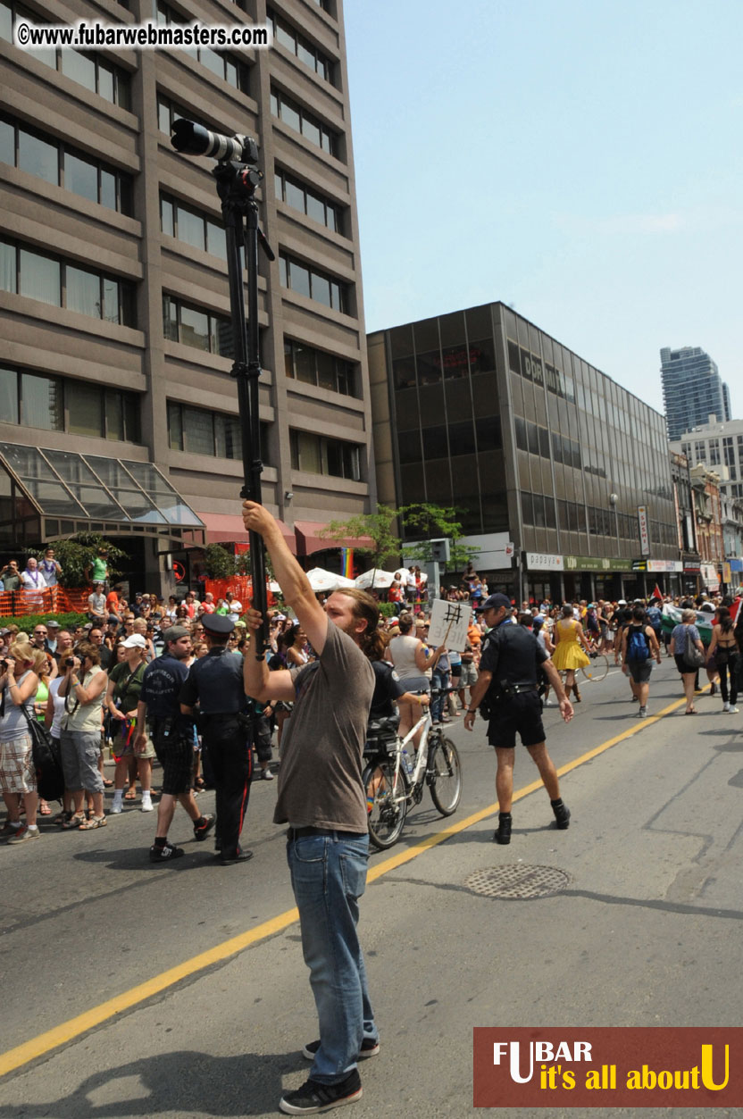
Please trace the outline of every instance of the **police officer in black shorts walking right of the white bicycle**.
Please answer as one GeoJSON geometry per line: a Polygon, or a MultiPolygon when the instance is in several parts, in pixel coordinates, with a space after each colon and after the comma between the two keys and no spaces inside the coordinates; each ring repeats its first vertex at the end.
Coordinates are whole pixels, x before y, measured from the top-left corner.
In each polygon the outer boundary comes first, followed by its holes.
{"type": "Polygon", "coordinates": [[[498,759],[496,796],[499,816],[493,839],[499,844],[510,843],[517,731],[539,770],[557,827],[564,830],[570,825],[571,814],[559,797],[557,772],[545,743],[542,700],[537,692],[539,666],[555,689],[566,723],[573,717],[573,706],[565,695],[559,673],[534,633],[524,626],[511,623],[510,600],[505,594],[491,594],[478,610],[485,615],[490,632],[483,643],[480,675],[470,693],[464,726],[468,731],[472,730],[477,708],[485,699],[482,715],[489,720],[488,742],[496,747],[498,759]]]}

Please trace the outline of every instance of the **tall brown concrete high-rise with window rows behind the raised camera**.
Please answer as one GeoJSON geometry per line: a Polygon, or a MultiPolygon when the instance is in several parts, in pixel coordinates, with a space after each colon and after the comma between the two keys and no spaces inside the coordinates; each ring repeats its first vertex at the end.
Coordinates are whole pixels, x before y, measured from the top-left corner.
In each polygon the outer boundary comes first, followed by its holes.
{"type": "Polygon", "coordinates": [[[164,586],[168,553],[188,568],[187,544],[245,538],[225,234],[213,161],[170,144],[181,116],[260,145],[276,255],[258,265],[264,500],[299,555],[325,547],[328,520],[375,501],[341,0],[74,10],[88,25],[267,22],[274,38],[21,50],[15,18],[67,9],[0,0],[0,551],[128,526],[132,568],[164,586]],[[175,491],[176,524],[157,501],[122,516],[144,477],[175,491]]]}

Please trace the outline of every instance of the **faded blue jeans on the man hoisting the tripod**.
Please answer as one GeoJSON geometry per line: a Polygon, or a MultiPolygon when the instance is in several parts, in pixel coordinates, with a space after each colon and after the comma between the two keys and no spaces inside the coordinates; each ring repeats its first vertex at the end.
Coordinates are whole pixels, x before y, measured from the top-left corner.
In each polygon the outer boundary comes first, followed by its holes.
{"type": "Polygon", "coordinates": [[[358,899],[366,888],[369,837],[323,831],[292,837],[286,859],[299,909],[304,962],[320,1022],[310,1076],[335,1084],[356,1068],[365,1037],[378,1033],[358,941],[358,899]]]}

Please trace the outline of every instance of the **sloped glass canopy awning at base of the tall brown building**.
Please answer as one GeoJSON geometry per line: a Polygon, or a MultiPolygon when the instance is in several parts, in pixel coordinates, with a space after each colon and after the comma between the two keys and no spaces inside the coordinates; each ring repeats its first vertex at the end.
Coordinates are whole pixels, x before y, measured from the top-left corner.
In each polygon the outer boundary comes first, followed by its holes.
{"type": "Polygon", "coordinates": [[[81,532],[204,540],[204,521],[151,462],[0,442],[0,544],[81,532]]]}

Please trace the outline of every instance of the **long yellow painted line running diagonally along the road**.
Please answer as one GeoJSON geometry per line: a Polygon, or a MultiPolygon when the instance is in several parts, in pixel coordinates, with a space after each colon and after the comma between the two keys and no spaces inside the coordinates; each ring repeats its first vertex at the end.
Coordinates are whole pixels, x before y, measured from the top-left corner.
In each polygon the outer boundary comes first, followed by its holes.
{"type": "MultiPolygon", "coordinates": [[[[685,703],[685,700],[679,699],[670,704],[668,707],[664,707],[664,709],[658,712],[657,715],[652,715],[647,720],[638,720],[637,724],[631,726],[629,730],[623,731],[622,734],[618,734],[613,739],[602,742],[600,746],[595,746],[587,753],[581,754],[581,756],[576,758],[574,761],[567,762],[567,764],[557,770],[558,775],[562,777],[564,773],[570,773],[571,770],[576,769],[579,765],[583,765],[585,762],[591,761],[593,758],[598,758],[599,754],[604,753],[606,750],[611,750],[611,747],[615,746],[619,742],[623,742],[626,739],[631,739],[632,735],[646,730],[648,726],[657,723],[665,715],[676,711],[683,703],[685,703]]],[[[519,789],[518,792],[515,792],[514,800],[521,800],[524,797],[528,797],[530,792],[540,788],[540,780],[533,781],[530,784],[519,789]]],[[[489,805],[487,808],[482,808],[479,812],[468,816],[467,819],[458,820],[457,824],[452,824],[450,827],[444,828],[443,831],[436,831],[434,835],[426,836],[425,839],[422,839],[413,847],[408,847],[406,850],[401,850],[372,867],[367,875],[367,881],[376,882],[376,880],[380,878],[384,874],[388,874],[391,871],[396,869],[396,867],[402,866],[404,863],[408,863],[411,859],[417,858],[418,855],[422,855],[424,852],[430,850],[432,847],[436,847],[440,843],[444,843],[444,840],[450,839],[460,831],[465,831],[467,828],[471,828],[474,824],[479,824],[481,820],[487,819],[497,811],[498,802],[496,801],[495,805],[489,805]]],[[[4,1076],[9,1072],[20,1069],[30,1061],[35,1061],[37,1057],[44,1056],[45,1053],[49,1053],[51,1050],[57,1049],[59,1045],[64,1045],[67,1042],[73,1041],[75,1037],[79,1037],[88,1029],[100,1026],[109,1018],[114,1018],[123,1010],[131,1009],[131,1007],[137,1006],[138,1003],[144,1003],[148,998],[152,998],[153,995],[159,995],[160,991],[167,990],[168,987],[173,987],[177,982],[180,982],[181,979],[186,979],[199,971],[204,971],[206,968],[211,967],[211,965],[226,960],[231,956],[235,956],[237,952],[242,952],[243,949],[250,948],[251,944],[255,944],[261,940],[265,940],[267,937],[274,935],[276,932],[281,932],[283,929],[286,929],[290,924],[293,924],[298,920],[299,913],[297,909],[286,910],[285,913],[281,913],[279,916],[274,916],[270,921],[264,921],[250,932],[243,932],[238,937],[232,937],[229,940],[225,940],[220,944],[209,948],[206,952],[199,952],[198,956],[192,956],[189,960],[184,960],[182,963],[179,963],[175,968],[169,968],[168,971],[162,971],[159,976],[148,979],[147,982],[139,984],[137,987],[132,987],[122,995],[115,995],[105,1003],[100,1003],[98,1006],[94,1006],[90,1010],[85,1010],[84,1014],[78,1014],[76,1017],[69,1018],[67,1022],[63,1022],[60,1025],[55,1026],[54,1029],[47,1029],[46,1033],[38,1034],[37,1037],[31,1037],[30,1041],[23,1042],[15,1049],[7,1050],[7,1052],[0,1054],[0,1076],[4,1076]]]]}

